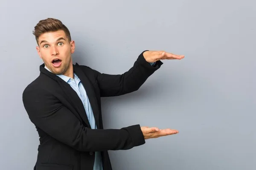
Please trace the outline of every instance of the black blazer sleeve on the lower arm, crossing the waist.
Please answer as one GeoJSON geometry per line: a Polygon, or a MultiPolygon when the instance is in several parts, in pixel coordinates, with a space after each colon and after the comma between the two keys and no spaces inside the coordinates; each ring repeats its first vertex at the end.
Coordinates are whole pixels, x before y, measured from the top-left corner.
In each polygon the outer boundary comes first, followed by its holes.
{"type": "Polygon", "coordinates": [[[52,138],[79,151],[128,150],[145,144],[140,125],[122,129],[90,129],[52,94],[37,87],[23,91],[29,119],[52,138]]]}

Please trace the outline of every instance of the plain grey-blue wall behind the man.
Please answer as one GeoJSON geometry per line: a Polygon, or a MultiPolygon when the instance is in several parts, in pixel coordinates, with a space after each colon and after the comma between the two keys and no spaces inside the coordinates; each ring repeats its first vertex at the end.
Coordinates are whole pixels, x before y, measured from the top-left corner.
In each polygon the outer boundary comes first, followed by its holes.
{"type": "Polygon", "coordinates": [[[105,128],[174,128],[179,134],[110,151],[114,170],[256,169],[254,0],[1,0],[1,170],[32,170],[38,134],[22,92],[42,60],[32,30],[58,18],[76,42],[73,60],[122,74],[144,50],[164,60],[132,94],[103,98],[105,128]]]}

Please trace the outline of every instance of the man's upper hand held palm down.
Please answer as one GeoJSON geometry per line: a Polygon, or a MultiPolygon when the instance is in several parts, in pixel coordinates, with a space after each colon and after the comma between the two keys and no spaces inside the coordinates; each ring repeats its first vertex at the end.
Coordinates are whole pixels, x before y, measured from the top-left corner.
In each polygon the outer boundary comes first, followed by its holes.
{"type": "Polygon", "coordinates": [[[166,51],[145,51],[143,56],[147,62],[156,62],[160,59],[183,59],[183,55],[167,53],[166,51]]]}

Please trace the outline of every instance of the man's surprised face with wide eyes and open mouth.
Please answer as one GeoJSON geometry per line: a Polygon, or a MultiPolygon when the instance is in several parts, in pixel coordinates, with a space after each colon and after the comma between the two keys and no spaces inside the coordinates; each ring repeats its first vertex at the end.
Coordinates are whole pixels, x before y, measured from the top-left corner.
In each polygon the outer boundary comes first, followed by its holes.
{"type": "Polygon", "coordinates": [[[65,74],[72,66],[71,54],[75,51],[75,42],[69,42],[64,31],[47,32],[38,38],[38,55],[54,74],[65,74]]]}

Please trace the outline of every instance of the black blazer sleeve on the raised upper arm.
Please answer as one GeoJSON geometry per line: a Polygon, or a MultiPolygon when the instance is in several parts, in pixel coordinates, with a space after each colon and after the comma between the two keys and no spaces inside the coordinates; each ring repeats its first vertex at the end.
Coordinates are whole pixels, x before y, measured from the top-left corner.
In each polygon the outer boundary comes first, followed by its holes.
{"type": "Polygon", "coordinates": [[[152,66],[143,57],[144,52],[139,55],[134,65],[123,74],[102,74],[93,70],[99,84],[101,97],[120,96],[137,91],[148,77],[160,68],[163,62],[157,61],[152,66]]]}

